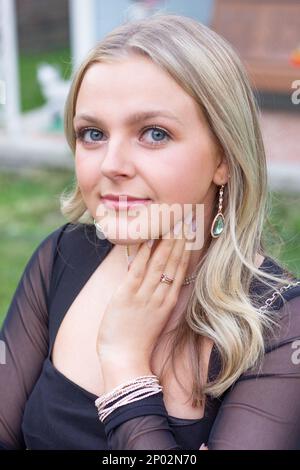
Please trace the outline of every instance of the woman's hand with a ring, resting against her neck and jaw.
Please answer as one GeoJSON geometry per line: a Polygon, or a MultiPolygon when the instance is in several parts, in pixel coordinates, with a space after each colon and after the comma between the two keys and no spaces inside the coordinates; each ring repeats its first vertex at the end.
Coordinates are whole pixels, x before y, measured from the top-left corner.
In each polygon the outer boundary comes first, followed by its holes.
{"type": "Polygon", "coordinates": [[[152,351],[184,281],[191,253],[185,249],[190,226],[159,240],[151,257],[148,243],[140,245],[99,327],[97,352],[102,367],[107,363],[108,367],[118,364],[118,369],[124,365],[150,370],[152,351]],[[174,279],[171,285],[160,282],[162,273],[174,279]]]}

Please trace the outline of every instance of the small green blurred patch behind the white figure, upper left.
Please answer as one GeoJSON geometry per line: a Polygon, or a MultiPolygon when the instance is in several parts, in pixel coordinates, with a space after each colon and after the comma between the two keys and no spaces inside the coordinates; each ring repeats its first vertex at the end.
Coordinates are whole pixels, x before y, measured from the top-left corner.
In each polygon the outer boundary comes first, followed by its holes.
{"type": "Polygon", "coordinates": [[[38,64],[46,62],[57,65],[61,77],[68,80],[72,73],[70,57],[70,49],[68,48],[31,54],[23,52],[20,54],[21,110],[23,112],[38,108],[45,103],[37,80],[38,64]]]}

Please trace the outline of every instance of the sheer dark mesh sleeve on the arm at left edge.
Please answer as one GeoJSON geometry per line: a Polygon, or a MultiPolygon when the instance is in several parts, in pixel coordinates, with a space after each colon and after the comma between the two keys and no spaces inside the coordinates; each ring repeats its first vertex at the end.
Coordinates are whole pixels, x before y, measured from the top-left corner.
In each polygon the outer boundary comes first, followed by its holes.
{"type": "Polygon", "coordinates": [[[63,227],[52,232],[32,254],[1,329],[0,449],[25,448],[22,416],[47,355],[47,293],[54,248],[63,227]]]}

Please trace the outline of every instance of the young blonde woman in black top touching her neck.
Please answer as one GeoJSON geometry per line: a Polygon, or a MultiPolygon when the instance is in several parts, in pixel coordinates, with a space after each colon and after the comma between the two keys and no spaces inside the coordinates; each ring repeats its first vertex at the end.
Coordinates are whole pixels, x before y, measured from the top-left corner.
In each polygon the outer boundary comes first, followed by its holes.
{"type": "Polygon", "coordinates": [[[263,248],[265,153],[230,45],[187,17],[126,23],[75,75],[65,126],[69,222],[1,334],[2,447],[299,448],[300,283],[263,248]],[[168,226],[173,204],[191,209],[168,226]]]}

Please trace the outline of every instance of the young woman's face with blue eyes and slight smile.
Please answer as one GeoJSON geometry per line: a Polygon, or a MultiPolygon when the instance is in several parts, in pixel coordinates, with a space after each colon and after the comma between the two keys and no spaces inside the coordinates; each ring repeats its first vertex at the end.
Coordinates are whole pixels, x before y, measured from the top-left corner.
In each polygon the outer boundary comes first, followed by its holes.
{"type": "Polygon", "coordinates": [[[137,243],[132,231],[112,232],[115,224],[121,230],[136,218],[108,208],[101,201],[106,194],[151,199],[140,206],[139,240],[166,232],[154,212],[150,222],[150,209],[157,213],[162,204],[204,204],[210,219],[216,185],[227,181],[226,163],[196,102],[150,59],[130,56],[92,65],[79,90],[74,128],[82,197],[102,227],[105,220],[113,243],[137,243]]]}

